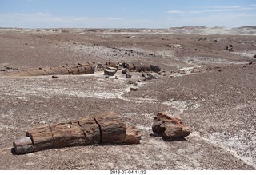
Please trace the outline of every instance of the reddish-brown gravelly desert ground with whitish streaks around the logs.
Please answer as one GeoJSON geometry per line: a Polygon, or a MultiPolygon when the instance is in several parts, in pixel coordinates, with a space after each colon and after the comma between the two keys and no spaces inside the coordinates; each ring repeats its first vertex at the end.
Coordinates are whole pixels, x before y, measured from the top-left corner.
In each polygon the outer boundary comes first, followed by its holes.
{"type": "Polygon", "coordinates": [[[256,29],[0,29],[0,169],[256,169],[256,29]],[[15,77],[66,63],[142,62],[122,70],[15,77]],[[138,90],[130,90],[131,87],[138,90]],[[89,145],[24,155],[13,141],[38,125],[114,111],[142,130],[138,145],[89,145]],[[180,141],[152,134],[160,111],[192,130],[180,141]]]}

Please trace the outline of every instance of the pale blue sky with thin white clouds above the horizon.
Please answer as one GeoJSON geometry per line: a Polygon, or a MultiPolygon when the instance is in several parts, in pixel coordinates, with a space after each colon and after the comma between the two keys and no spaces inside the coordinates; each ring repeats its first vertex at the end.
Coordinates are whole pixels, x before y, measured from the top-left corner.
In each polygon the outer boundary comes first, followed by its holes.
{"type": "Polygon", "coordinates": [[[256,0],[0,0],[0,27],[256,26],[256,0]]]}

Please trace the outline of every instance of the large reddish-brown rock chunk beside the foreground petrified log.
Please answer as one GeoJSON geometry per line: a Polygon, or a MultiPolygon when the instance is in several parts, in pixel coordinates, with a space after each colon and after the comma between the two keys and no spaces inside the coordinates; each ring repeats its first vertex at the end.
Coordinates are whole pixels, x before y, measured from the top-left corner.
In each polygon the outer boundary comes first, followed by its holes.
{"type": "Polygon", "coordinates": [[[166,112],[158,113],[154,117],[152,130],[166,139],[180,139],[190,135],[191,132],[179,117],[170,117],[166,112]]]}

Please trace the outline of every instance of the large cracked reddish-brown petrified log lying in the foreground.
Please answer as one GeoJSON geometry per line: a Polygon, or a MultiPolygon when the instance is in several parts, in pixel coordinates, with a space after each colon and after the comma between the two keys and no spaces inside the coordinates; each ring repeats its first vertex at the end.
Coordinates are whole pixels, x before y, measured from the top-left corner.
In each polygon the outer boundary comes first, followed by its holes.
{"type": "Polygon", "coordinates": [[[78,121],[42,125],[13,142],[16,154],[44,149],[94,144],[138,144],[141,131],[125,124],[114,112],[84,117],[78,121]]]}

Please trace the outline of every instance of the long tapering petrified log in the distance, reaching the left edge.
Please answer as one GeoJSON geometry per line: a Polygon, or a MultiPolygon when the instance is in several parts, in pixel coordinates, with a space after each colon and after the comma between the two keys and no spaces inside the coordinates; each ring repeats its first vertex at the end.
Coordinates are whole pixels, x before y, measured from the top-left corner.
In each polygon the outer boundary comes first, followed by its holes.
{"type": "Polygon", "coordinates": [[[41,76],[41,75],[56,75],[56,74],[94,74],[95,63],[87,62],[85,64],[66,64],[63,66],[46,66],[32,68],[26,70],[18,70],[10,73],[2,74],[3,76],[41,76]]]}

